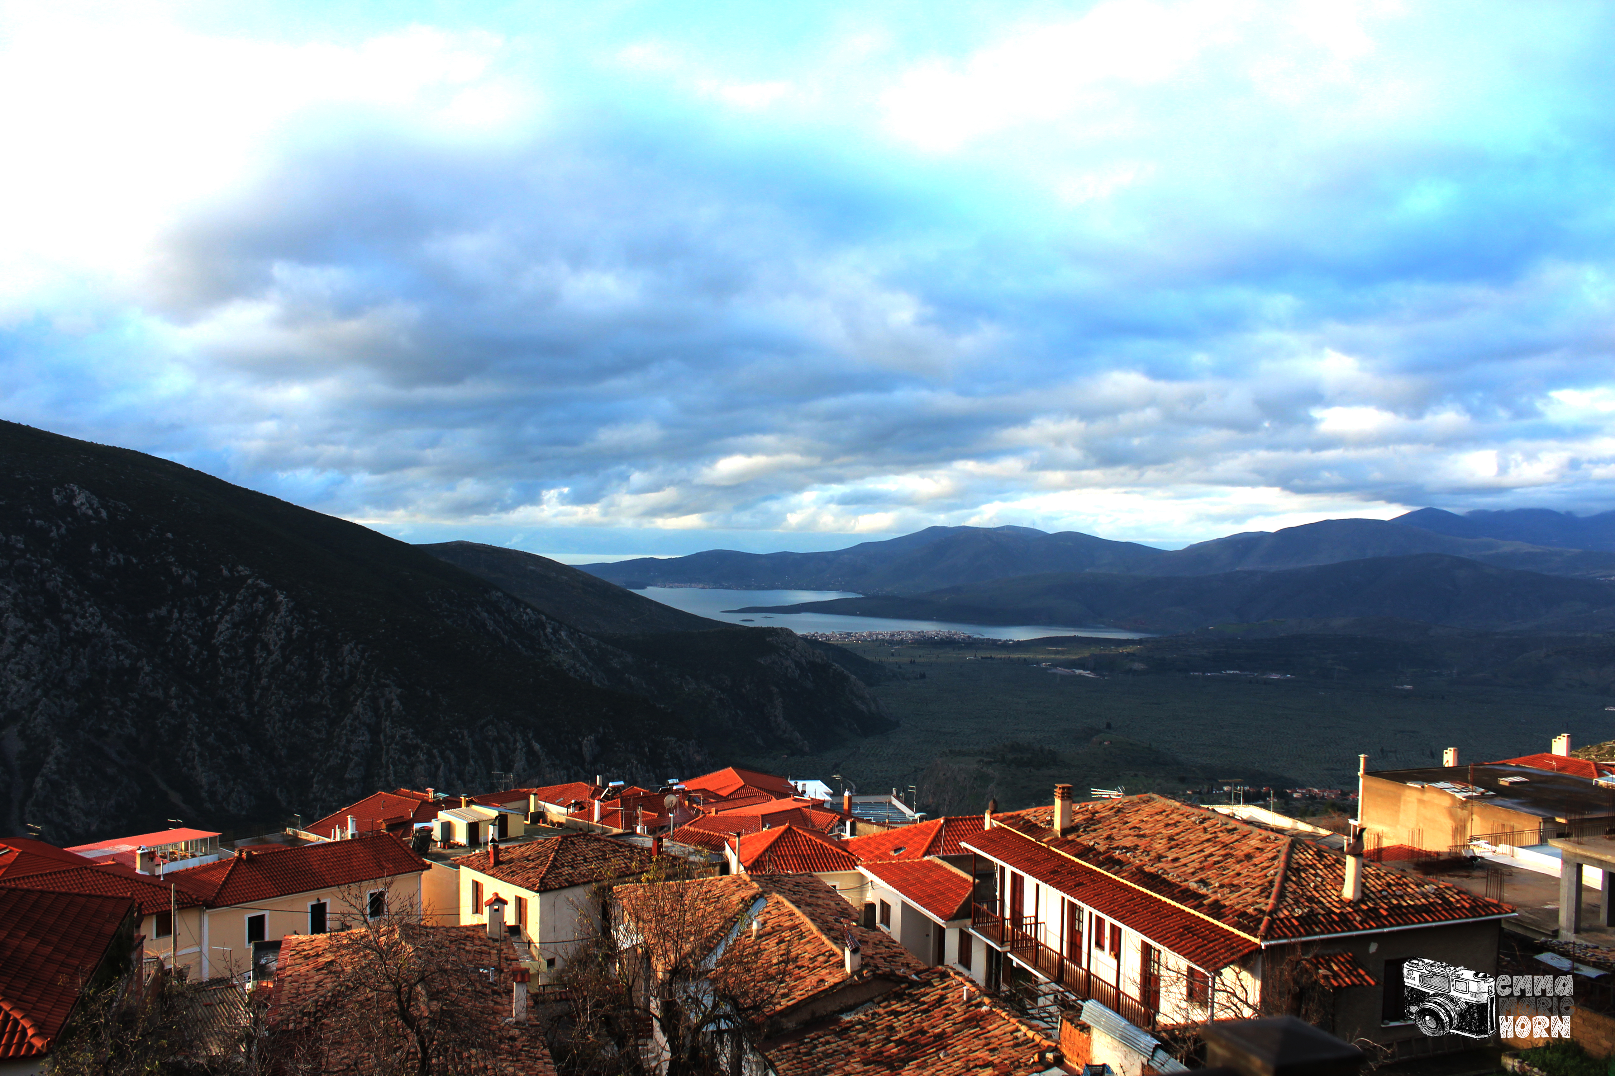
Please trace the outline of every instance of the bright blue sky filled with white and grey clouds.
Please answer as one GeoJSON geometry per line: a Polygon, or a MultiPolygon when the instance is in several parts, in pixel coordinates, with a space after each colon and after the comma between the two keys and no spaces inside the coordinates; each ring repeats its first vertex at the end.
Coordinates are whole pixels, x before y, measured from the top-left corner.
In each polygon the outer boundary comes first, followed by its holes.
{"type": "Polygon", "coordinates": [[[567,560],[1615,508],[1615,5],[0,3],[0,418],[567,560]]]}

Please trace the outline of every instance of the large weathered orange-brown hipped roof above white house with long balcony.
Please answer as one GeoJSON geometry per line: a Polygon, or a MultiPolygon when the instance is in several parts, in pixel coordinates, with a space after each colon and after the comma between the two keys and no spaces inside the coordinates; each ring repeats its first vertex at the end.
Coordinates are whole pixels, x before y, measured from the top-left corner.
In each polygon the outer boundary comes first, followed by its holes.
{"type": "Polygon", "coordinates": [[[1449,882],[1373,863],[1363,868],[1363,899],[1342,900],[1340,853],[1160,795],[1076,803],[1064,837],[1050,836],[1051,813],[1014,811],[1003,828],[1263,942],[1513,915],[1449,882]]]}

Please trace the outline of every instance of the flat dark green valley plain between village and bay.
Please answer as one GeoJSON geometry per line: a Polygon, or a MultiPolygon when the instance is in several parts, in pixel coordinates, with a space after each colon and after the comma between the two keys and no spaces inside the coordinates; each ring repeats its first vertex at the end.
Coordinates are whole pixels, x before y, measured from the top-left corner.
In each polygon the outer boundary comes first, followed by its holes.
{"type": "Polygon", "coordinates": [[[1392,769],[1439,765],[1444,747],[1483,761],[1547,750],[1565,731],[1578,745],[1615,737],[1615,713],[1604,710],[1615,699],[1600,687],[1410,669],[1408,647],[1381,640],[1292,637],[1234,652],[1169,640],[846,645],[903,678],[874,689],[901,726],[832,752],[746,761],[795,778],[840,773],[859,792],[917,786],[933,811],[975,811],[988,795],[1006,810],[1042,803],[1056,781],[1079,795],[1227,779],[1355,789],[1360,752],[1370,769],[1392,769]],[[1089,665],[1101,679],[1056,676],[1040,661],[1089,665]],[[1294,679],[1192,674],[1223,668],[1294,679]]]}

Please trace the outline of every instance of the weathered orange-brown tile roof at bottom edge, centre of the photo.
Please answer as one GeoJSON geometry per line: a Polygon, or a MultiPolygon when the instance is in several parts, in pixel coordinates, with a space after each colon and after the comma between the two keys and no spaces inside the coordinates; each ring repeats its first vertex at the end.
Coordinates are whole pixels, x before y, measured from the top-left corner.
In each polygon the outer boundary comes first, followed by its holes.
{"type": "Polygon", "coordinates": [[[778,1076],[1032,1076],[1058,1045],[950,968],[764,1052],[778,1076]]]}

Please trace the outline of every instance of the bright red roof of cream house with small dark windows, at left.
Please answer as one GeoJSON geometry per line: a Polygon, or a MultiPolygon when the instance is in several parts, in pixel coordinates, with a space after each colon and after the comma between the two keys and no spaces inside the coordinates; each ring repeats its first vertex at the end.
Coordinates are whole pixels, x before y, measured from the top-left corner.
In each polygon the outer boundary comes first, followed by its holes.
{"type": "Polygon", "coordinates": [[[317,889],[417,874],[430,866],[392,834],[305,844],[284,852],[244,850],[228,860],[166,874],[210,908],[289,897],[317,889]]]}

